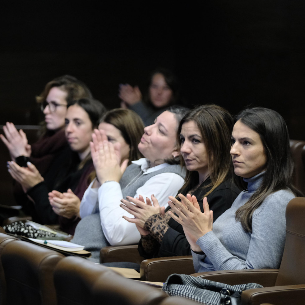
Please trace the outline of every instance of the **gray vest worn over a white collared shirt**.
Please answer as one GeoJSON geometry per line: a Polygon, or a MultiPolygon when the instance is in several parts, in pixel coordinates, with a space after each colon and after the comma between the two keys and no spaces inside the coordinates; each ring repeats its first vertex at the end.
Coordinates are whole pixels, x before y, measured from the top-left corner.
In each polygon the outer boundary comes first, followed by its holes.
{"type": "MultiPolygon", "coordinates": [[[[183,178],[185,177],[185,169],[181,169],[180,165],[168,164],[168,166],[165,166],[162,169],[143,175],[141,167],[132,163],[127,167],[120,180],[123,198],[126,198],[126,196],[133,197],[139,187],[146,183],[151,177],[161,173],[176,173],[183,178]],[[134,179],[134,181],[132,181],[132,179],[134,179]]],[[[103,233],[99,213],[88,215],[77,224],[72,242],[85,246],[85,250],[90,251],[92,254],[90,259],[95,262],[99,261],[100,249],[109,246],[103,233]]]]}

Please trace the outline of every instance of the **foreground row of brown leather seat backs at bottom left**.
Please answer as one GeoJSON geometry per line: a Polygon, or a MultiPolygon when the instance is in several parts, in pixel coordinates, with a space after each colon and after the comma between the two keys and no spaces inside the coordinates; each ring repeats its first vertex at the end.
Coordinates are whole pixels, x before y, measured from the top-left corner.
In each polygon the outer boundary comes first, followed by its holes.
{"type": "Polygon", "coordinates": [[[81,257],[0,233],[0,304],[195,305],[81,257]]]}

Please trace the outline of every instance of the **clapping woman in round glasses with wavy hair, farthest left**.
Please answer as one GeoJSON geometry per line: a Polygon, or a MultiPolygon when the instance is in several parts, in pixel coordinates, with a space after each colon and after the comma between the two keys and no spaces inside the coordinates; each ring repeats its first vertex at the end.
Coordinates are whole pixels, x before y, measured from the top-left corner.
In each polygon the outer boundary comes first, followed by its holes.
{"type": "MultiPolygon", "coordinates": [[[[0,137],[9,150],[11,160],[22,167],[28,167],[27,162],[30,162],[37,169],[38,173],[26,177],[29,187],[44,180],[52,191],[58,178],[66,177],[77,168],[78,163],[69,158],[70,148],[64,131],[67,104],[75,99],[91,97],[89,88],[75,77],[57,77],[49,81],[36,97],[45,116],[41,136],[36,143],[30,146],[26,134],[22,130],[17,131],[13,123],[7,122],[3,127],[5,136],[0,137]]],[[[14,196],[16,203],[23,206],[25,214],[31,214],[33,205],[19,183],[14,183],[14,196]]]]}

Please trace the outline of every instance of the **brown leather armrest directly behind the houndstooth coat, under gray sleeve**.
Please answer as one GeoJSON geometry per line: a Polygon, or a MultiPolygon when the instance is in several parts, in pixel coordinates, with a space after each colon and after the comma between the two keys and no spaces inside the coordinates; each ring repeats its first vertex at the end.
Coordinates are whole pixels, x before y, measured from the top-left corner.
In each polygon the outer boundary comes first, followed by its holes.
{"type": "Polygon", "coordinates": [[[257,283],[264,287],[270,287],[275,285],[278,272],[278,269],[246,269],[210,271],[192,275],[229,285],[257,283]]]}

